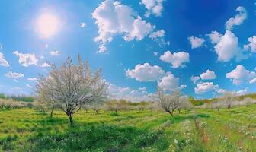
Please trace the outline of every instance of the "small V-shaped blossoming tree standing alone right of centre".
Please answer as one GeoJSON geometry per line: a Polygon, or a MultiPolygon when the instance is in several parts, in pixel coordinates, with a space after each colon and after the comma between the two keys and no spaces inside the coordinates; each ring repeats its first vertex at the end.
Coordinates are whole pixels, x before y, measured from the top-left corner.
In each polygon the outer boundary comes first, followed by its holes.
{"type": "Polygon", "coordinates": [[[178,106],[180,105],[180,91],[174,90],[173,93],[168,94],[165,93],[162,88],[158,87],[158,90],[156,92],[157,100],[162,109],[165,110],[165,112],[168,112],[171,116],[174,116],[174,111],[178,109],[178,106]]]}

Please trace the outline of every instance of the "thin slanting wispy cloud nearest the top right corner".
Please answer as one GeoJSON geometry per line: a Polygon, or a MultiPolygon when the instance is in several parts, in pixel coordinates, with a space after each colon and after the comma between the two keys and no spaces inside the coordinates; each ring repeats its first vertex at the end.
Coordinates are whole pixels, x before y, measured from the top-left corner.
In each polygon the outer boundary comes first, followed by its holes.
{"type": "Polygon", "coordinates": [[[238,14],[235,15],[235,18],[229,18],[226,22],[226,30],[232,30],[235,25],[242,24],[247,17],[246,9],[244,7],[238,6],[235,11],[238,11],[238,14]]]}

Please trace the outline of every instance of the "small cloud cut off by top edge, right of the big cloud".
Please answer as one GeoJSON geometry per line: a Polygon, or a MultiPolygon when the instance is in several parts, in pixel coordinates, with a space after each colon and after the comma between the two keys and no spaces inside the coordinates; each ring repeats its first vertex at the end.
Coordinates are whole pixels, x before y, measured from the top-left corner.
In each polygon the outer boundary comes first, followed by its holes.
{"type": "Polygon", "coordinates": [[[155,14],[157,17],[161,16],[163,11],[163,1],[164,0],[141,0],[141,4],[145,5],[148,10],[145,16],[149,17],[150,14],[155,14]]]}

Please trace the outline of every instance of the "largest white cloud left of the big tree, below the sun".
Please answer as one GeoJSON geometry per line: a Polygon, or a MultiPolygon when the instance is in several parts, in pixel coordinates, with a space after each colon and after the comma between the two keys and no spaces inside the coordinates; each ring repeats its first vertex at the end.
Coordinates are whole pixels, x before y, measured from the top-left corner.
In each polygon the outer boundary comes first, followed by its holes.
{"type": "Polygon", "coordinates": [[[37,58],[36,55],[34,53],[21,53],[18,51],[14,51],[13,52],[14,55],[16,55],[18,57],[18,62],[24,66],[24,67],[28,67],[29,65],[37,65],[37,58]]]}

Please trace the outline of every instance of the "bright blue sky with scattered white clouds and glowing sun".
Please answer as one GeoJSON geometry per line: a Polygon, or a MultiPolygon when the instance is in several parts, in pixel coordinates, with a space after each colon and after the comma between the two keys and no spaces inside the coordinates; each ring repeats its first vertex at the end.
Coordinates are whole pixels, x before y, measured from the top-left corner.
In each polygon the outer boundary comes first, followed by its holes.
{"type": "Polygon", "coordinates": [[[80,53],[117,98],[149,100],[157,86],[197,98],[254,93],[254,3],[3,0],[0,92],[34,94],[46,62],[80,53]]]}

